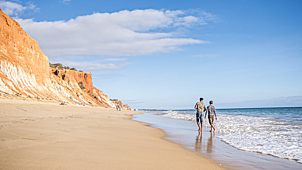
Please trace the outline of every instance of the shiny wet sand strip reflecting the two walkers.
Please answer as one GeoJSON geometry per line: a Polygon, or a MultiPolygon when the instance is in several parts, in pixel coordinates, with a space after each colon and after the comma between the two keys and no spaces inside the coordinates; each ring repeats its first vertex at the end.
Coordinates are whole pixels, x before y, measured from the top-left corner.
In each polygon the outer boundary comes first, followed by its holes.
{"type": "Polygon", "coordinates": [[[164,130],[167,134],[165,139],[181,144],[183,147],[205,158],[212,159],[228,169],[302,169],[302,164],[293,160],[238,150],[222,142],[218,138],[219,133],[211,135],[209,128],[204,127],[203,132],[198,133],[197,125],[192,121],[172,119],[151,113],[134,115],[134,120],[146,122],[152,124],[153,127],[164,130]]]}

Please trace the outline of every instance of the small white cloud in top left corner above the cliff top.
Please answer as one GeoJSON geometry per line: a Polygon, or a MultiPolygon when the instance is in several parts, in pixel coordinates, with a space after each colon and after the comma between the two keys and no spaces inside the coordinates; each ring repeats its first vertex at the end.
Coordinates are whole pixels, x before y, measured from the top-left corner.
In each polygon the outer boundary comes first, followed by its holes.
{"type": "Polygon", "coordinates": [[[0,1],[0,8],[4,13],[10,16],[18,16],[24,10],[35,10],[36,6],[32,3],[27,3],[27,6],[20,5],[18,3],[9,1],[0,1]]]}

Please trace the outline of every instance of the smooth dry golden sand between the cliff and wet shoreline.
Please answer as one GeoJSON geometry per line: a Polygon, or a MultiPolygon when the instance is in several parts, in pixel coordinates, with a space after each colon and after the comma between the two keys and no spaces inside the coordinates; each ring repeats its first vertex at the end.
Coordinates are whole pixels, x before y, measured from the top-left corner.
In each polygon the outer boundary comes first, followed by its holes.
{"type": "Polygon", "coordinates": [[[223,169],[134,111],[0,100],[0,169],[223,169]]]}

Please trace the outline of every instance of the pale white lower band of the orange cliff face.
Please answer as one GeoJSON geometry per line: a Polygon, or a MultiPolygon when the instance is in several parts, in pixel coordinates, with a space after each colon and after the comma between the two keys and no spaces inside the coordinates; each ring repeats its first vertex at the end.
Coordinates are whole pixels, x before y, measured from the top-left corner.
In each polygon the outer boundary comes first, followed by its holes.
{"type": "MultiPolygon", "coordinates": [[[[95,104],[92,101],[88,102],[81,95],[73,91],[73,89],[81,90],[77,83],[63,81],[62,83],[65,87],[57,82],[40,85],[36,82],[35,75],[26,73],[22,69],[22,67],[15,66],[6,61],[0,61],[0,74],[3,74],[6,77],[0,77],[0,91],[8,94],[14,95],[16,93],[20,93],[31,97],[47,98],[48,95],[45,95],[45,93],[47,93],[53,94],[62,101],[70,99],[73,102],[79,104],[95,104]],[[78,100],[73,96],[77,96],[78,100]]],[[[115,107],[115,104],[110,101],[105,95],[99,95],[95,90],[94,94],[96,94],[96,98],[100,102],[104,102],[110,107],[115,107]]]]}

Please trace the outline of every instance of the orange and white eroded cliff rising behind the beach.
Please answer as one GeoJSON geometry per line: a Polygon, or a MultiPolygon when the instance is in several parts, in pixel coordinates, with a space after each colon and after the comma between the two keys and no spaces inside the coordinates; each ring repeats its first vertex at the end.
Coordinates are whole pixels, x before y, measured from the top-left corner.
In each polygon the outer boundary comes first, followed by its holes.
{"type": "Polygon", "coordinates": [[[0,92],[2,98],[116,105],[93,86],[91,73],[50,68],[39,44],[1,9],[0,92]]]}

